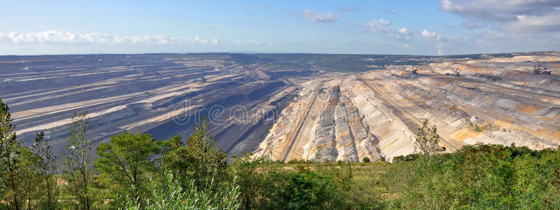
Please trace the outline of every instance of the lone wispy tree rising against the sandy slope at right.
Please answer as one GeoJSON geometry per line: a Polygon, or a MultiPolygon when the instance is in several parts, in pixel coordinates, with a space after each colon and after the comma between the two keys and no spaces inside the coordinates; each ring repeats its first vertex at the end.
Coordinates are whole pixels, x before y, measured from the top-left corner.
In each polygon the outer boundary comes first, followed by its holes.
{"type": "Polygon", "coordinates": [[[444,151],[444,149],[438,145],[438,143],[440,143],[440,135],[437,134],[437,128],[435,125],[430,128],[428,124],[428,120],[424,120],[422,127],[418,129],[419,133],[416,135],[416,141],[414,141],[414,144],[418,146],[423,154],[426,169],[430,168],[433,155],[444,151]]]}

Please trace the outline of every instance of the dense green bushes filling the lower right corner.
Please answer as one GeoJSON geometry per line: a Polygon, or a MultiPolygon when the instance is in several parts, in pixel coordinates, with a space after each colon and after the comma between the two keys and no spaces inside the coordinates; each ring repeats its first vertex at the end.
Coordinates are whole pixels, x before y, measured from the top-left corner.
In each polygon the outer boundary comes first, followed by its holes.
{"type": "Polygon", "coordinates": [[[398,209],[558,209],[559,155],[478,144],[440,154],[430,169],[397,162],[385,178],[400,185],[398,209]]]}

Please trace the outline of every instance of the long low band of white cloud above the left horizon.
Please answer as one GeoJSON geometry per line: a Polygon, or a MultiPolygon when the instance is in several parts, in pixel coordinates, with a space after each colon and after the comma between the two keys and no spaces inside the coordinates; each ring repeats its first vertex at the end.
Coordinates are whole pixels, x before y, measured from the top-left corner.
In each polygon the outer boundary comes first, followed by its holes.
{"type": "Polygon", "coordinates": [[[127,45],[127,44],[218,44],[217,38],[207,39],[200,36],[186,38],[181,36],[169,36],[166,34],[157,36],[111,36],[102,33],[90,33],[85,35],[72,34],[62,31],[40,31],[40,32],[10,32],[0,33],[1,43],[27,43],[27,44],[99,44],[99,45],[127,45]]]}

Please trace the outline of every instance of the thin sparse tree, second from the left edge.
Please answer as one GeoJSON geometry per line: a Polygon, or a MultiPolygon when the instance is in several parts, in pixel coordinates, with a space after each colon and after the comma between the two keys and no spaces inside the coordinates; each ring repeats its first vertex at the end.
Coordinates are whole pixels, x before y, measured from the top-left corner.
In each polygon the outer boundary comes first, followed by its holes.
{"type": "Polygon", "coordinates": [[[35,171],[40,181],[41,189],[46,193],[46,204],[44,209],[55,209],[55,172],[57,169],[56,156],[52,154],[52,149],[48,140],[44,139],[43,132],[35,137],[35,144],[31,146],[31,151],[36,155],[34,162],[35,171]]]}

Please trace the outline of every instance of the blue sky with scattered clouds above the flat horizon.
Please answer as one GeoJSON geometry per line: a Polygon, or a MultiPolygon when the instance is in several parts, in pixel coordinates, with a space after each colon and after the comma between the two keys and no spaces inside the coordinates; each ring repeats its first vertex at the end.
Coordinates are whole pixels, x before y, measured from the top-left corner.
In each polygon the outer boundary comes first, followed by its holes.
{"type": "Polygon", "coordinates": [[[0,1],[0,55],[560,50],[560,1],[0,1]]]}

